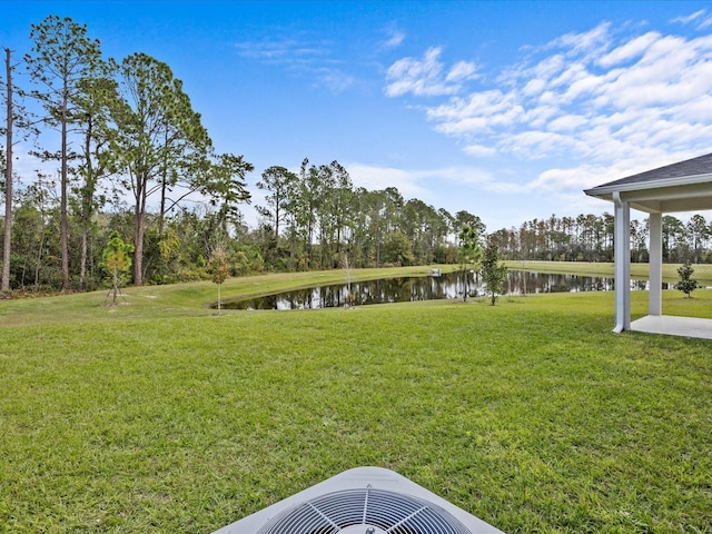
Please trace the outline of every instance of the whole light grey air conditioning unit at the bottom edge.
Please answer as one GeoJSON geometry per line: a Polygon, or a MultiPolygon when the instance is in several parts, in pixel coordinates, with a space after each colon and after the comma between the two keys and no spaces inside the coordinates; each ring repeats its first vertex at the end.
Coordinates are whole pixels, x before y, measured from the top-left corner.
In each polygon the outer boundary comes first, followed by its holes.
{"type": "Polygon", "coordinates": [[[214,534],[503,534],[397,473],[356,467],[214,534]]]}

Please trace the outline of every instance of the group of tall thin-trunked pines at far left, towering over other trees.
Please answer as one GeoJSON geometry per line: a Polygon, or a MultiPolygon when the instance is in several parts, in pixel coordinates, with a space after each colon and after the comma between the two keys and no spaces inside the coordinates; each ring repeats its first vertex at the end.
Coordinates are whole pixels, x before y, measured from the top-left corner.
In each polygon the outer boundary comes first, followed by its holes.
{"type": "MultiPolygon", "coordinates": [[[[34,287],[91,287],[100,257],[91,248],[111,197],[129,205],[123,211],[131,214],[132,281],[139,285],[149,270],[149,227],[161,240],[168,217],[190,195],[216,206],[218,222],[227,225],[235,204],[249,196],[244,180],[253,166],[243,156],[216,152],[166,63],[141,52],[105,59],[99,40],[69,18],[31,24],[29,38],[30,51],[19,61],[4,49],[0,290],[24,287],[28,270],[34,287]],[[26,187],[16,188],[14,148],[29,138],[31,156],[57,171],[22,177],[26,187]]],[[[107,237],[105,228],[100,238],[107,237]]]]}

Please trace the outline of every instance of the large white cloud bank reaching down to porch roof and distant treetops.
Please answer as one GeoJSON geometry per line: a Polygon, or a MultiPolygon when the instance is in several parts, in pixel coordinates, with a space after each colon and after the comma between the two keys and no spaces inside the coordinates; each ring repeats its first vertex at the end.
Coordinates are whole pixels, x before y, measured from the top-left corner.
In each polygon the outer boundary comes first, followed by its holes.
{"type": "MultiPolygon", "coordinates": [[[[699,30],[705,20],[701,13],[690,22],[699,30]]],[[[712,34],[704,32],[601,23],[531,47],[496,69],[468,70],[466,62],[455,69],[457,61],[444,65],[439,48],[400,61],[392,66],[386,93],[427,97],[416,109],[474,166],[407,171],[399,179],[418,188],[438,184],[414,196],[434,204],[447,196],[446,209],[472,199],[465,208],[495,225],[491,229],[537,216],[525,212],[610,211],[582,190],[712,147],[712,34]],[[461,71],[467,83],[458,81],[461,71]]]]}

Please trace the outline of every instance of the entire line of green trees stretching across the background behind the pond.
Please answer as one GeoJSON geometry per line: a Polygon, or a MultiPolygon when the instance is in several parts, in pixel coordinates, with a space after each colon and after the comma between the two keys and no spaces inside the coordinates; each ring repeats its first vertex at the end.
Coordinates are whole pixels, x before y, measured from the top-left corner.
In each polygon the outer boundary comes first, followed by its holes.
{"type": "MultiPolygon", "coordinates": [[[[395,187],[354,187],[338,161],[307,158],[297,170],[260,174],[265,200],[250,227],[240,208],[254,166],[215,150],[166,63],[141,52],[105,58],[86,26],[57,16],[32,24],[29,40],[21,59],[4,49],[0,76],[0,293],[116,287],[107,247],[117,238],[132,256],[122,284],[135,285],[207,278],[216,254],[230,275],[455,264],[463,228],[505,259],[613,258],[607,214],[552,216],[487,236],[469,211],[406,200],[395,187]],[[56,170],[18,176],[20,142],[32,146],[23,156],[56,170]]],[[[665,216],[664,259],[710,260],[711,234],[702,216],[686,225],[665,216]]],[[[631,236],[633,260],[645,261],[645,221],[632,221],[631,236]]]]}

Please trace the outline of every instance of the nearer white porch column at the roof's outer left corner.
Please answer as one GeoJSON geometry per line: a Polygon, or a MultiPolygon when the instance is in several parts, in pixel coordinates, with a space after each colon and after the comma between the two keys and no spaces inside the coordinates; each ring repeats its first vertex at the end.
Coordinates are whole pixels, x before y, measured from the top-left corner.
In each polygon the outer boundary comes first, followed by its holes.
{"type": "Polygon", "coordinates": [[[631,329],[631,207],[613,194],[615,260],[615,328],[620,334],[631,329]]]}

